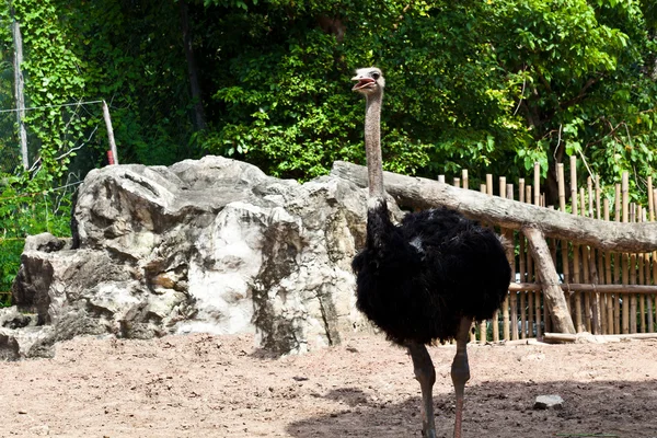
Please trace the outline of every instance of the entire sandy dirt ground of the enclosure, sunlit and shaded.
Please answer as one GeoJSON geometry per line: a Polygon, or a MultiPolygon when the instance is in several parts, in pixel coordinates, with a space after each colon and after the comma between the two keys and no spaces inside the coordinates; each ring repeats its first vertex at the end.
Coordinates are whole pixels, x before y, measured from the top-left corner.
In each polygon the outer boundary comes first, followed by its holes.
{"type": "MultiPolygon", "coordinates": [[[[451,437],[452,346],[436,364],[451,437]]],[[[469,347],[464,437],[657,437],[657,341],[469,347]],[[560,411],[537,411],[558,394],[560,411]]],[[[272,358],[250,336],[77,338],[54,359],[0,362],[0,437],[419,437],[405,351],[364,335],[272,358]]]]}

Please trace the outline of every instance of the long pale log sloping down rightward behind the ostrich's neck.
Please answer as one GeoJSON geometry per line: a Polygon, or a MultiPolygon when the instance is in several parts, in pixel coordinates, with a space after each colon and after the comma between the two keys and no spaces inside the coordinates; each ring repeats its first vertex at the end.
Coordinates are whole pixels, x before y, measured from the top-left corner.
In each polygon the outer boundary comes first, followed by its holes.
{"type": "MultiPolygon", "coordinates": [[[[360,187],[367,185],[367,169],[361,165],[336,161],[331,174],[360,187]]],[[[384,172],[383,180],[388,193],[404,207],[426,209],[445,206],[497,227],[514,230],[540,228],[548,237],[600,250],[629,253],[657,250],[657,222],[622,223],[591,219],[391,172],[384,172]]]]}

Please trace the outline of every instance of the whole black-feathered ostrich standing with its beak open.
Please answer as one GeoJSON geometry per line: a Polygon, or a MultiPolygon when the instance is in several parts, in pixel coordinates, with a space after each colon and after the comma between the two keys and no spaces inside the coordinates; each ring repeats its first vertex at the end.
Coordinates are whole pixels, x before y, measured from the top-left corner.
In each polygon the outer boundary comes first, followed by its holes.
{"type": "Polygon", "coordinates": [[[353,90],[366,99],[365,148],[369,184],[366,246],[353,262],[357,308],[393,343],[407,348],[422,389],[423,436],[436,437],[434,364],[425,345],[457,341],[451,366],[461,437],[463,391],[470,379],[466,343],[473,321],[489,319],[507,295],[510,267],[500,239],[447,208],[390,219],[381,160],[381,102],[385,80],[378,68],[356,71],[353,90]]]}

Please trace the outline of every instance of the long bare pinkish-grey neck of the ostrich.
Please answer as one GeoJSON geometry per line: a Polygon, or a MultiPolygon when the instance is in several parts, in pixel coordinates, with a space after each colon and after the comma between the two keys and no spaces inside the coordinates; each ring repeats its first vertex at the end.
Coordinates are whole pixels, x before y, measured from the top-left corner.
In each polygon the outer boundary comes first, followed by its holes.
{"type": "MultiPolygon", "coordinates": [[[[381,161],[381,102],[383,92],[366,96],[365,151],[370,200],[385,199],[383,163],[381,161]]],[[[378,204],[378,203],[376,203],[378,204]]]]}

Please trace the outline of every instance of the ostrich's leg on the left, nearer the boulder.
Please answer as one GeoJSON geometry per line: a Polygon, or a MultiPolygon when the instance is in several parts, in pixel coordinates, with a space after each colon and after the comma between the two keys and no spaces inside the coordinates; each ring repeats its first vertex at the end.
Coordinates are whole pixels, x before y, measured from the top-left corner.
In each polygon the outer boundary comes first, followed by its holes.
{"type": "Polygon", "coordinates": [[[424,438],[436,438],[436,424],[434,422],[434,396],[431,394],[436,382],[436,370],[434,362],[423,344],[408,342],[406,344],[411,358],[415,379],[422,389],[422,436],[424,438]]]}

